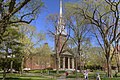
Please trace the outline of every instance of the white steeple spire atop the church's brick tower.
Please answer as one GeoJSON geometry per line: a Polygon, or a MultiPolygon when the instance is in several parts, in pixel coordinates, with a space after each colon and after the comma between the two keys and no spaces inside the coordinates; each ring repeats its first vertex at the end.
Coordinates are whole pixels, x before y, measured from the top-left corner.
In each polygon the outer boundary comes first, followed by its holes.
{"type": "Polygon", "coordinates": [[[64,19],[63,19],[63,5],[62,4],[63,4],[62,0],[60,0],[60,16],[59,16],[59,20],[58,20],[57,34],[66,35],[65,23],[64,23],[64,19]]]}

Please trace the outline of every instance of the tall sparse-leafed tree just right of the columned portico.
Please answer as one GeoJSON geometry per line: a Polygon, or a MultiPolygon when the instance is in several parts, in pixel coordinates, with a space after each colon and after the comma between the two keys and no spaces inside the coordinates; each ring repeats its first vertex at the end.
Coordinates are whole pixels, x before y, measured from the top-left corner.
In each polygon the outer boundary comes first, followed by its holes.
{"type": "Polygon", "coordinates": [[[82,58],[82,44],[86,41],[89,41],[87,37],[87,33],[89,32],[89,28],[85,24],[85,20],[81,14],[77,14],[77,10],[75,10],[72,6],[78,6],[76,4],[72,5],[70,3],[66,4],[65,14],[67,19],[67,25],[71,29],[70,38],[72,42],[74,42],[77,51],[75,54],[76,58],[76,74],[78,66],[80,68],[80,72],[82,72],[81,68],[81,58],[82,58]]]}

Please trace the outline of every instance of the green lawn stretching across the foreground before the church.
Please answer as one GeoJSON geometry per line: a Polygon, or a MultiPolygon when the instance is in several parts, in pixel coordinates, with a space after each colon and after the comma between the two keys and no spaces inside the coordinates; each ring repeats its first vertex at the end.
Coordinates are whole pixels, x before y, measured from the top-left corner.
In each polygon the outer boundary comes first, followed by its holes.
{"type": "MultiPolygon", "coordinates": [[[[22,75],[20,74],[10,74],[7,73],[6,80],[56,80],[56,77],[60,77],[65,73],[64,71],[61,71],[59,74],[56,74],[56,71],[51,70],[50,74],[40,74],[40,70],[34,70],[31,72],[24,73],[22,75]]],[[[96,73],[99,72],[101,76],[101,80],[120,80],[120,73],[117,75],[118,77],[114,78],[107,78],[106,73],[103,71],[94,71],[89,72],[89,80],[96,80],[96,73]]],[[[114,75],[114,74],[113,74],[114,75]]],[[[78,78],[84,78],[84,75],[82,73],[77,73],[78,78]]],[[[76,78],[76,74],[70,73],[67,78],[76,78]]],[[[0,74],[0,80],[2,79],[2,74],[0,74]]]]}

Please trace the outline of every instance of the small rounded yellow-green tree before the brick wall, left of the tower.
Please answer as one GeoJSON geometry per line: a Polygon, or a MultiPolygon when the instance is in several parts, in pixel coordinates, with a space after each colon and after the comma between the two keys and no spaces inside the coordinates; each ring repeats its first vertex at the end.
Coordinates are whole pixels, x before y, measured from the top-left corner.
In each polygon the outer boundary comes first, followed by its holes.
{"type": "Polygon", "coordinates": [[[36,62],[39,66],[41,66],[42,69],[50,68],[51,65],[51,54],[52,51],[48,45],[48,43],[45,43],[40,48],[37,48],[36,56],[36,62]]]}

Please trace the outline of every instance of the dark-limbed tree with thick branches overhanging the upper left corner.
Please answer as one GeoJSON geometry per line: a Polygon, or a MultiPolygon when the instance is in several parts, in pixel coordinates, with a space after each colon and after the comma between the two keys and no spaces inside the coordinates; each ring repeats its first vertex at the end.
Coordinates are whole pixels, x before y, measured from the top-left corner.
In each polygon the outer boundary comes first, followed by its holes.
{"type": "Polygon", "coordinates": [[[31,23],[42,6],[41,0],[0,0],[0,43],[7,27],[18,23],[31,23]]]}

